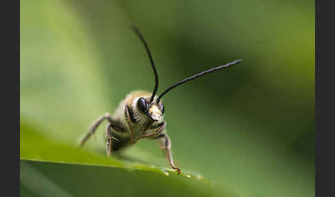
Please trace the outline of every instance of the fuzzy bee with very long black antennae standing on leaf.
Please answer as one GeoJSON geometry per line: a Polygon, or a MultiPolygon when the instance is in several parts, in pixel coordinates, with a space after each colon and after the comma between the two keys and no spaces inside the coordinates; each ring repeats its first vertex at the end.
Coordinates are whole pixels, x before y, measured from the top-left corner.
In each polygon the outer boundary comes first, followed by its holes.
{"type": "Polygon", "coordinates": [[[154,60],[152,59],[152,54],[139,29],[135,25],[130,25],[130,28],[135,32],[136,36],[141,39],[150,59],[155,77],[154,91],[137,90],[130,92],[130,94],[119,103],[119,107],[115,110],[114,114],[111,115],[107,112],[92,123],[88,134],[81,140],[80,146],[83,146],[85,142],[88,141],[88,138],[97,130],[97,127],[104,120],[107,120],[108,124],[105,127],[105,145],[108,158],[112,152],[117,152],[124,147],[133,145],[142,138],[156,139],[159,140],[161,148],[165,149],[167,160],[171,167],[180,174],[181,169],[174,165],[172,159],[170,137],[167,135],[167,132],[165,132],[167,123],[163,121],[165,110],[161,98],[174,87],[196,79],[199,76],[203,76],[204,74],[236,65],[241,63],[242,60],[238,59],[225,65],[220,65],[219,67],[194,74],[168,87],[163,93],[156,96],[159,87],[159,77],[154,65],[154,60]]]}

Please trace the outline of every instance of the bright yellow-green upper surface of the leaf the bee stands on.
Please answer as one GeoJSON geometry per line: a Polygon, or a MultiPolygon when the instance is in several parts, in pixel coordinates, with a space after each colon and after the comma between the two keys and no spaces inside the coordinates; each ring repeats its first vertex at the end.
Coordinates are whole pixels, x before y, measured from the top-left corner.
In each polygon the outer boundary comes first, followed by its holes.
{"type": "MultiPolygon", "coordinates": [[[[145,165],[134,160],[119,159],[116,158],[116,156],[112,156],[108,159],[104,152],[103,154],[97,154],[99,153],[97,151],[89,151],[88,149],[79,148],[79,146],[67,145],[54,139],[45,138],[32,129],[32,127],[25,124],[21,124],[20,133],[20,158],[23,160],[137,169],[156,172],[165,176],[177,174],[173,169],[163,166],[145,165]]],[[[141,153],[137,150],[135,154],[141,153]]],[[[199,174],[182,172],[180,176],[196,178],[204,183],[210,184],[208,180],[203,179],[199,174]]]]}

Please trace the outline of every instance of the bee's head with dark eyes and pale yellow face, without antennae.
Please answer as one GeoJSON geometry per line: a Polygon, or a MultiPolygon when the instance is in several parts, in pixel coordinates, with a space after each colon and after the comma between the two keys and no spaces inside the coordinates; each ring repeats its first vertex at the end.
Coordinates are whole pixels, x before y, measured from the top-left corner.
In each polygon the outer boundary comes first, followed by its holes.
{"type": "Polygon", "coordinates": [[[164,114],[164,105],[162,103],[150,103],[143,97],[137,101],[137,108],[153,121],[159,121],[164,114]]]}

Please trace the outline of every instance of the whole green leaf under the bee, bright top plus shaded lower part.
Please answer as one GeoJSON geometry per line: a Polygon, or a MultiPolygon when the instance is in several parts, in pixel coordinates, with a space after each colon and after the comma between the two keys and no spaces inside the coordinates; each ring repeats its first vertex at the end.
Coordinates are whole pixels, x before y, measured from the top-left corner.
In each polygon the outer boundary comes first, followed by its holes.
{"type": "Polygon", "coordinates": [[[223,195],[213,182],[199,174],[183,171],[177,175],[174,170],[159,165],[145,165],[115,156],[108,159],[103,154],[45,138],[24,124],[20,133],[21,192],[25,194],[44,196],[47,191],[55,190],[53,195],[68,196],[108,196],[110,192],[116,196],[125,193],[125,196],[223,195]],[[70,184],[78,181],[78,177],[82,185],[88,186],[94,179],[94,189],[70,184]],[[38,179],[38,183],[34,183],[34,179],[38,179]]]}

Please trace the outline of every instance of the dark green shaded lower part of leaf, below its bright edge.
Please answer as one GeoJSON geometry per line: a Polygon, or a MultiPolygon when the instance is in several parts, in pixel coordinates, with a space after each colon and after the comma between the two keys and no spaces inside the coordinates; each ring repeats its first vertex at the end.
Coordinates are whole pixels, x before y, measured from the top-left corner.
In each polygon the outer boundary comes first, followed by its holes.
{"type": "Polygon", "coordinates": [[[143,170],[24,160],[21,172],[22,193],[38,196],[231,196],[196,180],[143,170]]]}

